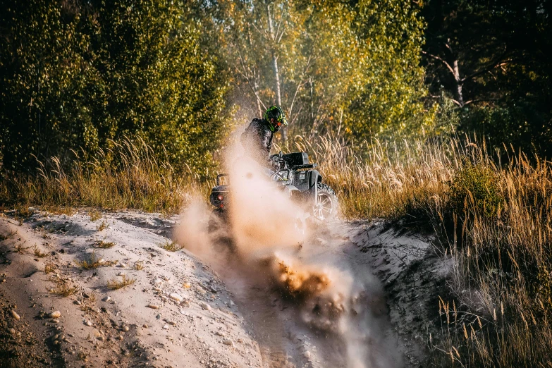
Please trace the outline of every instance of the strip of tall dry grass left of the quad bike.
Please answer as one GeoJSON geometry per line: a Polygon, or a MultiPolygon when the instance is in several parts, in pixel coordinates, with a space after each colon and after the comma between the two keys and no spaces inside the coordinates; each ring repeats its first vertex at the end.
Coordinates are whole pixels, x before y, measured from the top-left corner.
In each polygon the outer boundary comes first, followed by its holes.
{"type": "MultiPolygon", "coordinates": [[[[89,161],[76,158],[64,170],[56,157],[37,161],[37,175],[0,177],[0,204],[28,207],[102,207],[177,213],[192,192],[206,192],[191,172],[177,175],[142,140],[112,142],[89,161]]],[[[78,157],[77,152],[73,152],[78,157]]],[[[203,193],[205,194],[205,193],[203,193]]]]}

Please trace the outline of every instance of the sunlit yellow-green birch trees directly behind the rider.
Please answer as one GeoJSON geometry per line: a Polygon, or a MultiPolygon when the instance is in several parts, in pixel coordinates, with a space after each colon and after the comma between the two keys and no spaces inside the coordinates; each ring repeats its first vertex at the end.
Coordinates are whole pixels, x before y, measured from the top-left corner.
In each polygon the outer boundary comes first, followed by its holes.
{"type": "Polygon", "coordinates": [[[429,123],[420,101],[417,6],[252,0],[219,1],[214,9],[248,111],[260,115],[280,95],[293,133],[333,132],[356,142],[429,123]]]}

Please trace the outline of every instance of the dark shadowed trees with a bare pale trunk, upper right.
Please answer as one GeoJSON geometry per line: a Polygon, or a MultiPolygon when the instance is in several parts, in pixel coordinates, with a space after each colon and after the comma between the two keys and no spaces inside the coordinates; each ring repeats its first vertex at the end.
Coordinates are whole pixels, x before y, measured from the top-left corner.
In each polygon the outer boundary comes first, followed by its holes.
{"type": "Polygon", "coordinates": [[[427,1],[429,90],[453,97],[461,130],[551,157],[551,15],[549,1],[427,1]]]}

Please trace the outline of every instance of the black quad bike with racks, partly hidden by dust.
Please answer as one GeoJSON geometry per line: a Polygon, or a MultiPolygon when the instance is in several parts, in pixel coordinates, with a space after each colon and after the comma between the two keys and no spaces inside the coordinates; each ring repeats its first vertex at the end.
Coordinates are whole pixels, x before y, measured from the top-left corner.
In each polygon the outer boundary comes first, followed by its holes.
{"type": "MultiPolygon", "coordinates": [[[[315,169],[317,164],[309,163],[309,155],[306,152],[280,152],[272,155],[271,160],[276,166],[276,171],[271,175],[276,189],[288,192],[294,202],[309,209],[311,216],[318,221],[326,221],[336,216],[336,193],[329,185],[322,183],[322,176],[315,169]]],[[[228,174],[219,174],[209,198],[215,207],[214,214],[222,219],[226,219],[226,211],[230,205],[228,185],[221,185],[221,178],[224,177],[227,180],[231,179],[228,178],[228,174]]]]}

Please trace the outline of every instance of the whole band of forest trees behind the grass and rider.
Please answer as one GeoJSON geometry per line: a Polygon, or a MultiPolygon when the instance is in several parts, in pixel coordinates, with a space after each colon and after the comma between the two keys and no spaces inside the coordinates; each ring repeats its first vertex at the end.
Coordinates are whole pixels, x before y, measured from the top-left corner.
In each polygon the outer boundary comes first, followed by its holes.
{"type": "MultiPolygon", "coordinates": [[[[235,125],[296,137],[476,133],[552,153],[551,2],[1,1],[0,161],[90,159],[142,138],[212,178],[235,125]]],[[[289,144],[292,144],[291,146],[289,144]]],[[[104,159],[113,159],[109,154],[104,159]]]]}

